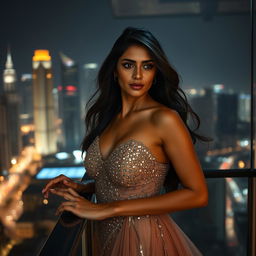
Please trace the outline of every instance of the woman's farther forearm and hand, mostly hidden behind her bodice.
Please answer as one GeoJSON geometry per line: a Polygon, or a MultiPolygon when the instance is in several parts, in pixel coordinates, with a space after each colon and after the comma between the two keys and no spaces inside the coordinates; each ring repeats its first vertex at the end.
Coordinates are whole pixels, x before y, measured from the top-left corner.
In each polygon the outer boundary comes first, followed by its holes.
{"type": "Polygon", "coordinates": [[[79,194],[94,193],[95,191],[94,181],[90,181],[87,183],[75,182],[67,176],[61,174],[58,177],[50,180],[43,188],[42,193],[45,198],[48,198],[51,189],[63,190],[67,188],[72,188],[79,194]]]}

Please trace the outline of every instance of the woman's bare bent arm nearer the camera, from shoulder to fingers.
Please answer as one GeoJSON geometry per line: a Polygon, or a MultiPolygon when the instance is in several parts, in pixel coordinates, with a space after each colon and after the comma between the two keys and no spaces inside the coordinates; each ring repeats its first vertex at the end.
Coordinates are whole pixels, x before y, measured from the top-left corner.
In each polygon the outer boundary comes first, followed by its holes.
{"type": "Polygon", "coordinates": [[[101,220],[114,216],[164,214],[206,206],[208,190],[203,171],[190,134],[179,114],[169,109],[159,110],[152,120],[164,150],[179,177],[182,189],[150,198],[105,204],[93,204],[81,199],[79,210],[71,209],[70,202],[66,202],[68,207],[63,205],[58,210],[70,210],[81,217],[101,220]]]}

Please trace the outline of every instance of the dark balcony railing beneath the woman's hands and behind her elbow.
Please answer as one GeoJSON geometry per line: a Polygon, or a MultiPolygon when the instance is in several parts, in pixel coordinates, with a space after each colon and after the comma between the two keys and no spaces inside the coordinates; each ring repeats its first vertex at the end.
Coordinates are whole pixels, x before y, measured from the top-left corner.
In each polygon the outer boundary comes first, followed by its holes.
{"type": "MultiPolygon", "coordinates": [[[[251,170],[209,170],[205,171],[205,176],[207,179],[210,178],[221,178],[221,177],[256,177],[256,171],[251,170]]],[[[252,188],[249,188],[249,191],[252,188]]],[[[252,191],[252,190],[251,190],[252,191]]],[[[95,197],[92,195],[84,195],[87,199],[95,201],[95,197]]],[[[249,198],[249,201],[252,199],[249,198]]],[[[250,202],[248,202],[250,205],[250,202]]],[[[250,227],[251,208],[248,211],[248,219],[250,227]]],[[[249,233],[251,228],[249,228],[249,233]]],[[[92,248],[90,247],[90,241],[92,239],[90,232],[90,221],[79,218],[72,213],[64,212],[60,216],[57,224],[55,225],[50,236],[46,240],[44,246],[39,252],[38,256],[91,256],[92,248]]],[[[249,234],[249,240],[250,239],[249,234]]],[[[249,245],[251,241],[248,241],[249,245]]],[[[251,248],[249,246],[249,251],[251,248]]],[[[252,255],[248,252],[248,255],[252,255]]]]}

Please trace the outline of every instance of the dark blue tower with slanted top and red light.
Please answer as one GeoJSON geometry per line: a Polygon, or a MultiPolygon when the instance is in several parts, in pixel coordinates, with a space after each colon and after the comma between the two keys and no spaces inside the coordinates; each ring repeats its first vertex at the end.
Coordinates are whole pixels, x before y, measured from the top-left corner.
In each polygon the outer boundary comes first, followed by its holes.
{"type": "Polygon", "coordinates": [[[60,116],[62,119],[62,150],[71,152],[81,144],[81,111],[78,65],[60,53],[61,85],[58,87],[60,116]]]}

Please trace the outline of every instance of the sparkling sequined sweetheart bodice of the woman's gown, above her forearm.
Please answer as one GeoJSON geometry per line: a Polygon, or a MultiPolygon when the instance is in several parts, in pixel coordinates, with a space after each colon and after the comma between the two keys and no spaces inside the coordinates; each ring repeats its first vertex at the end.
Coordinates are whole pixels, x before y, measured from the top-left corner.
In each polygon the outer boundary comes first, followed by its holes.
{"type": "Polygon", "coordinates": [[[104,160],[97,136],[87,150],[85,168],[95,180],[97,201],[111,202],[159,194],[169,165],[134,139],[119,144],[104,160]]]}

